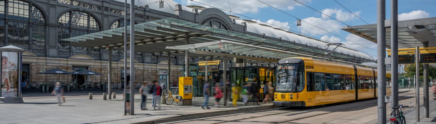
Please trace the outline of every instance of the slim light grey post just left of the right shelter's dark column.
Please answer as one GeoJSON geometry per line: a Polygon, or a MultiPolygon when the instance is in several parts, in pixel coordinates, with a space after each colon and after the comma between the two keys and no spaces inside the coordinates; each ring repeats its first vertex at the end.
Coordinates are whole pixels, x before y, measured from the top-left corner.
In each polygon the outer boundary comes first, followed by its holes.
{"type": "Polygon", "coordinates": [[[419,46],[415,50],[416,122],[419,122],[419,46]]]}

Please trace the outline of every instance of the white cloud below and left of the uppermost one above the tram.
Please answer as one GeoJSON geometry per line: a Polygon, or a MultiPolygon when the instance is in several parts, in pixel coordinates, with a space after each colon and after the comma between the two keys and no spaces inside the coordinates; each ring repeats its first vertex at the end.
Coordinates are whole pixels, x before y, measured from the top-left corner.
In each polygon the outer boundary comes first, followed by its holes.
{"type": "Polygon", "coordinates": [[[328,32],[339,33],[341,27],[342,26],[336,20],[323,20],[321,18],[309,17],[301,21],[300,31],[301,33],[306,33],[310,35],[325,35],[328,32]],[[321,29],[315,26],[320,27],[321,29]],[[327,30],[328,32],[322,29],[327,30]]]}

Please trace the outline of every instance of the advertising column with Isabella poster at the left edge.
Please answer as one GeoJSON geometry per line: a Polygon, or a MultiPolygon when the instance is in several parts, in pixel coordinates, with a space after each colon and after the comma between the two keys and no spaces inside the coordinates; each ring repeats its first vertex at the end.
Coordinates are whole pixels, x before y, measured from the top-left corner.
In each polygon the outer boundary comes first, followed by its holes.
{"type": "Polygon", "coordinates": [[[21,103],[21,53],[24,49],[16,46],[0,48],[2,82],[0,87],[0,103],[21,103]]]}

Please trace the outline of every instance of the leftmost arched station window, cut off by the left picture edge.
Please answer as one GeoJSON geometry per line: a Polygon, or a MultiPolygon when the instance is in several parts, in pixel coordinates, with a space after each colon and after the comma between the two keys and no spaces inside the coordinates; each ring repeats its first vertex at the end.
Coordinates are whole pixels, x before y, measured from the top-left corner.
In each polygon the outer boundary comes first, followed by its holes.
{"type": "Polygon", "coordinates": [[[15,45],[27,47],[35,53],[45,53],[45,23],[41,10],[33,4],[22,0],[0,0],[1,46],[15,45]]]}

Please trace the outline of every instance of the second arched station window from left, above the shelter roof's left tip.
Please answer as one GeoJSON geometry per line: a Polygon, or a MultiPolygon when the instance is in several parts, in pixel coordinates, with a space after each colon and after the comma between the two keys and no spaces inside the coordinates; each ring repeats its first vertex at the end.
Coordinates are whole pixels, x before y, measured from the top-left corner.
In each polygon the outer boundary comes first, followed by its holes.
{"type": "MultiPolygon", "coordinates": [[[[58,48],[72,50],[86,50],[82,47],[70,47],[60,39],[81,36],[100,31],[100,25],[89,13],[82,11],[69,11],[58,20],[58,48]]],[[[64,53],[69,55],[70,53],[64,53]]]]}

